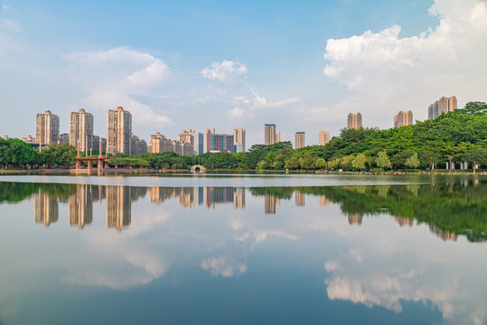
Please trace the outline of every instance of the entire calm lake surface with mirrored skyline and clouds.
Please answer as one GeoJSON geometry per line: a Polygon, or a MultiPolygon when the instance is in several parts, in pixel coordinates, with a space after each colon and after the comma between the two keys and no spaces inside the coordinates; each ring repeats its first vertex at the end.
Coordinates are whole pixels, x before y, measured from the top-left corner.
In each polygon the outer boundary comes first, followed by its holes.
{"type": "Polygon", "coordinates": [[[0,324],[485,324],[485,176],[0,176],[0,324]]]}

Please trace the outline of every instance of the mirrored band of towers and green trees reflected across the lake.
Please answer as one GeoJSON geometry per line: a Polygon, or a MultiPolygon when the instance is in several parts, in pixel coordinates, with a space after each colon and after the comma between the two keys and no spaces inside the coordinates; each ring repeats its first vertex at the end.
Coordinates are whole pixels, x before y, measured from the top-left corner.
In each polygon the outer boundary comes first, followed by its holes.
{"type": "Polygon", "coordinates": [[[428,185],[343,186],[305,188],[239,188],[239,187],[128,187],[86,184],[1,183],[7,187],[3,200],[34,197],[34,220],[49,227],[59,219],[60,202],[68,202],[69,223],[82,229],[93,221],[93,202],[106,201],[107,227],[121,231],[132,222],[132,203],[149,193],[151,203],[177,200],[184,209],[204,203],[206,209],[231,203],[233,209],[246,209],[246,192],[263,197],[264,212],[276,214],[281,200],[292,200],[304,207],[305,196],[319,196],[325,209],[338,204],[351,226],[361,226],[364,217],[390,215],[399,226],[412,227],[426,223],[436,237],[456,241],[463,235],[469,241],[487,239],[486,182],[470,181],[428,185]],[[9,194],[12,198],[9,198],[9,194]]]}

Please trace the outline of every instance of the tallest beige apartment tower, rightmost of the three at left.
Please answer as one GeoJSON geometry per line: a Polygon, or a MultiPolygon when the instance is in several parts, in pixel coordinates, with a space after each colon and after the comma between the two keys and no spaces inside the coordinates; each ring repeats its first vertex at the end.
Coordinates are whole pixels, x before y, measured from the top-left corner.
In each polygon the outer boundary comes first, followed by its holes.
{"type": "Polygon", "coordinates": [[[111,154],[130,154],[130,143],[132,136],[132,115],[117,107],[110,109],[107,113],[107,152],[111,154]]]}

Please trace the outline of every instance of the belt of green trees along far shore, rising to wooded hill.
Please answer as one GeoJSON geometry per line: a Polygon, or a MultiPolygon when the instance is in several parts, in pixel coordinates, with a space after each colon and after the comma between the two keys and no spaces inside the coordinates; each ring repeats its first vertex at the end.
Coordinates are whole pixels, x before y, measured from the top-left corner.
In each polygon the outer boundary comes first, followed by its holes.
{"type": "MultiPolygon", "coordinates": [[[[98,153],[94,154],[94,156],[98,153]]],[[[18,139],[0,139],[0,166],[35,168],[74,164],[76,150],[69,144],[53,144],[39,153],[18,139]]],[[[326,145],[295,150],[291,142],[254,144],[246,153],[143,153],[133,157],[110,156],[110,166],[186,170],[201,164],[210,170],[372,170],[436,169],[452,163],[487,167],[487,105],[470,102],[462,109],[415,125],[379,130],[365,127],[342,129],[326,145]]]]}

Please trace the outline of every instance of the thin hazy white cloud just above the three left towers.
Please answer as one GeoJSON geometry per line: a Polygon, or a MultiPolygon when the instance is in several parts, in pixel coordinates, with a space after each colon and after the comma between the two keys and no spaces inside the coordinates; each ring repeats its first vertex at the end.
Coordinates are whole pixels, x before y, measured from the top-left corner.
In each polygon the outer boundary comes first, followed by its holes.
{"type": "Polygon", "coordinates": [[[122,106],[133,114],[134,125],[171,123],[168,116],[140,99],[152,96],[155,88],[172,78],[163,60],[125,47],[70,53],[62,58],[70,63],[70,79],[85,89],[89,107],[106,111],[122,106]]]}

